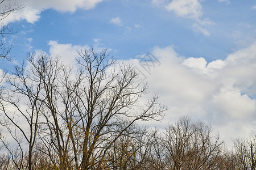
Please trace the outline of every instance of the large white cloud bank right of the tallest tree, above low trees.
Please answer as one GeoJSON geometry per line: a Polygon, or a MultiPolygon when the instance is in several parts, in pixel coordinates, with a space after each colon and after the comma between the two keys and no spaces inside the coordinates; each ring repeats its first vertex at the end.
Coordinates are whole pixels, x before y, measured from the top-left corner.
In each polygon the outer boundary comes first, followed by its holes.
{"type": "Polygon", "coordinates": [[[151,53],[160,66],[150,74],[139,70],[150,91],[159,92],[160,101],[170,107],[166,124],[184,114],[209,121],[228,145],[256,133],[256,42],[209,63],[203,57],[179,56],[172,46],[151,53]]]}

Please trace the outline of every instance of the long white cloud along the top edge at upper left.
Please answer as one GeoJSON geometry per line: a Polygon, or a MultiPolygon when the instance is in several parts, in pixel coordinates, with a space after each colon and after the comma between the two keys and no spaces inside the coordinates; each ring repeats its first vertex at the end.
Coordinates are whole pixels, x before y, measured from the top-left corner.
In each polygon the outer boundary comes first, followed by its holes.
{"type": "Polygon", "coordinates": [[[83,8],[89,10],[95,7],[98,3],[104,0],[11,0],[5,1],[1,5],[9,4],[21,5],[24,8],[20,9],[19,12],[12,12],[5,20],[5,23],[13,22],[15,20],[27,20],[29,23],[34,23],[40,18],[40,13],[44,10],[52,8],[61,12],[75,12],[77,8],[83,8]]]}

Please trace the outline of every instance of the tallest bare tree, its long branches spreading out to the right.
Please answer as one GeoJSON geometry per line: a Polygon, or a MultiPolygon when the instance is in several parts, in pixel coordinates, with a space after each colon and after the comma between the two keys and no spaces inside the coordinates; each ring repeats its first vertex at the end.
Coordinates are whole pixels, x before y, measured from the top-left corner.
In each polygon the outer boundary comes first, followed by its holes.
{"type": "Polygon", "coordinates": [[[153,96],[139,103],[147,84],[135,83],[138,73],[132,66],[109,59],[106,50],[80,50],[83,77],[76,91],[76,126],[83,132],[81,169],[99,167],[114,143],[138,120],[162,118],[163,107],[153,96]],[[112,69],[110,69],[110,67],[112,69]]]}

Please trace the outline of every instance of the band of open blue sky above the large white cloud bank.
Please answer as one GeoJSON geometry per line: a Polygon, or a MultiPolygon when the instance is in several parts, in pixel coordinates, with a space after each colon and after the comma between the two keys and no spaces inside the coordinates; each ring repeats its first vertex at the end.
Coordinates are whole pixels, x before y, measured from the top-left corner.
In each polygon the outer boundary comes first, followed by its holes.
{"type": "Polygon", "coordinates": [[[28,50],[47,51],[51,40],[60,44],[93,45],[97,39],[98,45],[113,49],[117,58],[134,58],[154,46],[174,45],[182,56],[204,57],[210,62],[224,59],[254,41],[255,1],[198,1],[201,8],[195,15],[198,12],[199,16],[179,15],[175,10],[168,10],[166,6],[170,2],[108,0],[88,10],[77,6],[72,12],[68,8],[60,11],[34,5],[39,8],[40,18],[31,23],[23,19],[11,24],[18,32],[10,37],[13,55],[22,58],[20,50],[23,55],[28,50]],[[116,18],[120,24],[110,22],[116,18]],[[208,23],[199,24],[197,20],[208,23]]]}

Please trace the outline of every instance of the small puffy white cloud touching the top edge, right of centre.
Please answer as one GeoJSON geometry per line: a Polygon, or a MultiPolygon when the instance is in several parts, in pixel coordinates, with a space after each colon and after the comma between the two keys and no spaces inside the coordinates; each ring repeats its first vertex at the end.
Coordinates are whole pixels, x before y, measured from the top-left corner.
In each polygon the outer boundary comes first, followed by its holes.
{"type": "Polygon", "coordinates": [[[177,16],[198,19],[203,15],[201,4],[198,0],[173,0],[166,9],[174,11],[177,16]]]}

